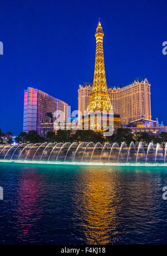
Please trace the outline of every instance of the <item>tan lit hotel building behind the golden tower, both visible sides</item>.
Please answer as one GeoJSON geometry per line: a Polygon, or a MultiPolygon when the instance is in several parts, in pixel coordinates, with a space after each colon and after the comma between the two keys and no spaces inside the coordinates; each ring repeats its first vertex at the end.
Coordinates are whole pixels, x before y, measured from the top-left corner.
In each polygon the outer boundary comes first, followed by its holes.
{"type": "MultiPolygon", "coordinates": [[[[150,84],[147,79],[134,81],[122,87],[109,88],[114,113],[119,113],[121,124],[144,117],[151,120],[150,84]]],[[[92,93],[92,84],[80,85],[78,89],[78,110],[82,114],[87,110],[92,93]]],[[[81,117],[78,116],[78,120],[81,117]]]]}

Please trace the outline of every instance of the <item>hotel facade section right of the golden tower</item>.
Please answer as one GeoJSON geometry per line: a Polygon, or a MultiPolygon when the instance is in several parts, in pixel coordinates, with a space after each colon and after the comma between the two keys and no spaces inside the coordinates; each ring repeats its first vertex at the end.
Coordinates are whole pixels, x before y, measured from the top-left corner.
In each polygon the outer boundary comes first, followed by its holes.
{"type": "Polygon", "coordinates": [[[110,98],[114,109],[120,113],[121,123],[140,119],[151,120],[151,93],[147,79],[134,81],[122,88],[109,89],[110,98]]]}

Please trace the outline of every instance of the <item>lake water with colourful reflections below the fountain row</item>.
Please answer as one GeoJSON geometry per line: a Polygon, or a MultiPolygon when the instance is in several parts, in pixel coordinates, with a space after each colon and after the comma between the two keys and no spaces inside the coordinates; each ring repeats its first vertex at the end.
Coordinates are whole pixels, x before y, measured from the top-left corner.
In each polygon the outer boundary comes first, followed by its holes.
{"type": "Polygon", "coordinates": [[[0,244],[165,244],[167,167],[0,163],[0,244]]]}

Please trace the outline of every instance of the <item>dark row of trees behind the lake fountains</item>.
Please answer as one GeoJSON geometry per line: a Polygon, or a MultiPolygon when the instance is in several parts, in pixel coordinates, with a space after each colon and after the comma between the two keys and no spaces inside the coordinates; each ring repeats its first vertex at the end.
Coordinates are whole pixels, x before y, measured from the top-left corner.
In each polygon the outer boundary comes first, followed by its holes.
{"type": "Polygon", "coordinates": [[[134,134],[129,128],[118,128],[112,136],[104,137],[100,132],[95,132],[92,130],[78,130],[76,133],[71,131],[58,130],[55,132],[48,132],[46,138],[38,135],[36,131],[30,131],[28,133],[22,132],[16,138],[18,143],[42,143],[42,142],[126,142],[127,145],[131,141],[134,143],[143,142],[148,144],[150,142],[154,143],[165,143],[167,142],[167,133],[162,132],[158,136],[150,135],[149,133],[137,133],[134,134]]]}

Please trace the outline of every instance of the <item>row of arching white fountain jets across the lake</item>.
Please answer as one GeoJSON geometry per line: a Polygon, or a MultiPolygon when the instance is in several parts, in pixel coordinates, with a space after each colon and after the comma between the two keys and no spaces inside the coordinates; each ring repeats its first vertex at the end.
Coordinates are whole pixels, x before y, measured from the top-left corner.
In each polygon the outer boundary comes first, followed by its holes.
{"type": "Polygon", "coordinates": [[[58,142],[20,145],[1,145],[1,162],[58,163],[80,165],[160,165],[166,163],[167,143],[161,147],[150,142],[148,147],[134,142],[128,147],[125,142],[58,142]]]}

